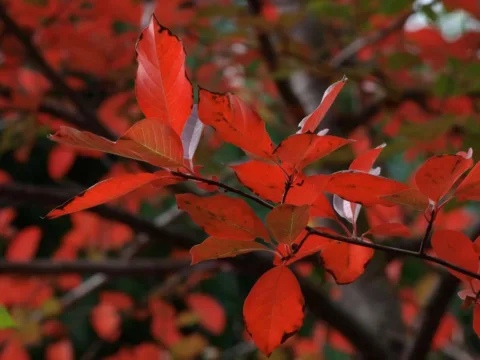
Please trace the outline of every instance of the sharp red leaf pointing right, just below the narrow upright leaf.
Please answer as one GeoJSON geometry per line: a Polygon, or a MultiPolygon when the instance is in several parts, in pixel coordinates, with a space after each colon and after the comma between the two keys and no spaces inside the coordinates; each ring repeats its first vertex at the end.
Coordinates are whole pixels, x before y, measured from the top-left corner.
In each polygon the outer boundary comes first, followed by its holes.
{"type": "Polygon", "coordinates": [[[350,140],[330,135],[297,134],[283,140],[275,149],[274,155],[288,171],[300,171],[312,162],[327,156],[350,140]]]}

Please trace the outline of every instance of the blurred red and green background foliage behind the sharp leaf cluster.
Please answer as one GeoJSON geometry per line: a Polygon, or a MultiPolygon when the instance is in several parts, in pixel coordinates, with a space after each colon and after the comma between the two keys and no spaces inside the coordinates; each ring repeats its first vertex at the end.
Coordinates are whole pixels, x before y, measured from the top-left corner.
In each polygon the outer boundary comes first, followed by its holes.
{"type": "MultiPolygon", "coordinates": [[[[128,261],[132,254],[137,261],[188,264],[184,246],[172,247],[163,238],[142,243],[143,231],[118,221],[121,216],[42,218],[66,194],[139,170],[138,164],[58,145],[46,135],[68,124],[113,138],[142,118],[134,93],[135,42],[154,9],[160,23],[183,40],[193,84],[235,92],[257,109],[276,143],[296,131],[329,84],[349,78],[322,128],[356,142],[311,166],[311,173],[345,169],[356,154],[383,142],[382,175],[404,182],[433,154],[471,147],[475,158],[480,152],[476,0],[3,1],[0,323],[15,325],[0,331],[2,360],[263,357],[243,327],[243,300],[256,280],[248,269],[207,264],[195,271],[125,271],[108,281],[101,274],[9,271],[8,262],[15,260],[102,264],[128,261]]],[[[196,153],[204,174],[238,185],[226,165],[244,158],[205,129],[196,153]]],[[[159,224],[173,238],[200,242],[205,234],[176,210],[176,191],[182,189],[150,186],[110,206],[159,224]]],[[[250,205],[264,218],[264,209],[250,205]]],[[[439,223],[473,236],[478,214],[477,206],[457,203],[440,214],[439,223]]],[[[365,230],[396,219],[414,238],[425,228],[422,214],[400,207],[374,207],[361,219],[365,230]]],[[[415,246],[414,239],[397,240],[415,246]]],[[[379,337],[409,339],[438,271],[385,254],[377,254],[371,267],[358,286],[336,286],[316,259],[297,270],[379,337]]],[[[471,321],[471,311],[453,296],[431,358],[478,358],[471,321]]],[[[355,354],[348,339],[307,312],[300,333],[272,358],[355,354]]]]}

